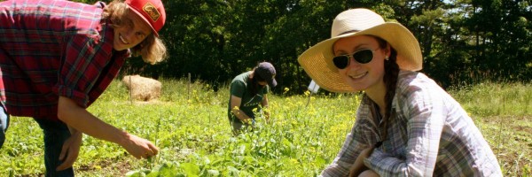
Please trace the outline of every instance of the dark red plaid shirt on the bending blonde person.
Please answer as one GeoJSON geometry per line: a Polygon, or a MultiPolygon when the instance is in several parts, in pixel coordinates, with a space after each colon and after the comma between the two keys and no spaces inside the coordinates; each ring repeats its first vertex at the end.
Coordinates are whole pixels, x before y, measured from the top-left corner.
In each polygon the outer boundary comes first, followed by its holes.
{"type": "Polygon", "coordinates": [[[106,4],[61,0],[0,3],[0,96],[15,116],[57,119],[59,96],[86,108],[120,71],[106,4]]]}

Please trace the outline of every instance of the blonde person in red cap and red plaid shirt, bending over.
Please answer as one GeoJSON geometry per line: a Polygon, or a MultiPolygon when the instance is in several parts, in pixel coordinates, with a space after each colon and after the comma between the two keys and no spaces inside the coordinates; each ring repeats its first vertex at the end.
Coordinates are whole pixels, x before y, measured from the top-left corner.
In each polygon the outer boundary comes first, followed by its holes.
{"type": "Polygon", "coordinates": [[[157,155],[153,142],[86,108],[131,54],[148,63],[165,58],[158,34],[165,19],[160,0],[0,2],[0,148],[12,115],[43,129],[46,176],[74,176],[82,134],[118,143],[135,158],[157,155]]]}

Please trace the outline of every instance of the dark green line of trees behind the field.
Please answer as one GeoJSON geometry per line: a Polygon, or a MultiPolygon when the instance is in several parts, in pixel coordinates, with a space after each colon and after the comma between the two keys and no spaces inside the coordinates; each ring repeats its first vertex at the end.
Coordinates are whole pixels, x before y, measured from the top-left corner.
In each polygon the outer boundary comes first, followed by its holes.
{"type": "Polygon", "coordinates": [[[338,13],[364,7],[411,30],[424,56],[421,72],[444,88],[530,81],[531,1],[163,0],[167,21],[160,36],[169,58],[158,65],[130,59],[122,74],[183,78],[191,73],[192,80],[216,89],[269,61],[278,71],[278,88],[304,90],[310,78],[298,56],[330,38],[338,13]]]}

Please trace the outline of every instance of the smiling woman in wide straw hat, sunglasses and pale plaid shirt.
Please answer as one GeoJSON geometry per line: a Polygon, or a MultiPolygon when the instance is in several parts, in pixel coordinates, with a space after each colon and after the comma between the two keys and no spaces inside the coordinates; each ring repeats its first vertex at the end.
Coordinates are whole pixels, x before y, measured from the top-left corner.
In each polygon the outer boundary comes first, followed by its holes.
{"type": "Polygon", "coordinates": [[[367,9],[341,12],[331,39],[298,58],[333,92],[364,91],[356,123],[323,176],[501,176],[465,110],[421,69],[419,43],[367,9]]]}

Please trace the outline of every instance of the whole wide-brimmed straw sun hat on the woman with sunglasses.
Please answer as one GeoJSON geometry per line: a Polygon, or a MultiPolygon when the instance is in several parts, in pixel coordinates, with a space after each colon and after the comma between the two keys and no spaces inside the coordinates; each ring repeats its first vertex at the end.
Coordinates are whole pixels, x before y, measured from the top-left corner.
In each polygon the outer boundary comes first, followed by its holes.
{"type": "Polygon", "coordinates": [[[298,58],[306,73],[321,88],[332,92],[353,92],[353,88],[340,77],[332,63],[332,44],[355,35],[375,35],[386,40],[397,51],[397,65],[403,70],[419,71],[422,57],[419,42],[403,25],[385,22],[379,14],[367,9],[341,12],[332,21],[331,38],[319,42],[298,58]]]}

